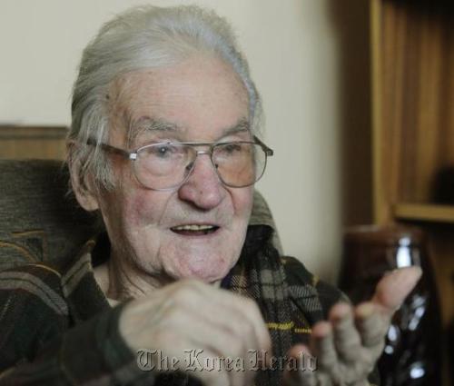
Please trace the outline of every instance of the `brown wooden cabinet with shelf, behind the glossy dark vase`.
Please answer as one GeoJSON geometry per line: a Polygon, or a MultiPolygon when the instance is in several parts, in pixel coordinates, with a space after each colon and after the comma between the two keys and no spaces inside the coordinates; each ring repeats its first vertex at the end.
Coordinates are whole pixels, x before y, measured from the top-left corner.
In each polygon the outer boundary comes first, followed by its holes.
{"type": "Polygon", "coordinates": [[[371,0],[375,223],[428,235],[442,320],[454,322],[454,2],[371,0]],[[446,195],[446,194],[445,194],[446,195]]]}

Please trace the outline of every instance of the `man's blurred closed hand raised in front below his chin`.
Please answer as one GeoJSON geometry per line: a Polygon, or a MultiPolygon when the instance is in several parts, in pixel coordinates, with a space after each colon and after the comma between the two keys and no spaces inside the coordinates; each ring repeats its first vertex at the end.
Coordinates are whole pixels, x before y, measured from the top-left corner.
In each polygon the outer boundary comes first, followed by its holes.
{"type": "MultiPolygon", "coordinates": [[[[157,350],[177,358],[184,370],[187,350],[202,350],[198,359],[243,358],[253,363],[250,350],[271,351],[270,334],[255,302],[202,282],[184,280],[153,296],[126,305],[120,332],[133,351],[157,350]],[[186,352],[185,352],[186,351],[186,352]]],[[[158,363],[153,363],[158,367],[158,363]]],[[[191,371],[210,386],[251,385],[255,371],[191,371]]]]}

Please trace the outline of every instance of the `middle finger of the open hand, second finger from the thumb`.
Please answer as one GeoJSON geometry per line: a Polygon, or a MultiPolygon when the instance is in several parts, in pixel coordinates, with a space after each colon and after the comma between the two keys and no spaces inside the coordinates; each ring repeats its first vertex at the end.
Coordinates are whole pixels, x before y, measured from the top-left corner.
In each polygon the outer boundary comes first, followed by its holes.
{"type": "Polygon", "coordinates": [[[351,306],[347,303],[334,305],[331,308],[330,320],[338,359],[343,362],[360,360],[361,338],[354,324],[351,306]]]}

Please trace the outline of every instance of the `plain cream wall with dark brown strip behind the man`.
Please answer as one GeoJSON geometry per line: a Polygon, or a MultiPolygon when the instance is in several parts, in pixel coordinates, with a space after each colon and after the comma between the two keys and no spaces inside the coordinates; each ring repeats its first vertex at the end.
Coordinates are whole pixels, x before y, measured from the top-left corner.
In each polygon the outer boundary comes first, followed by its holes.
{"type": "MultiPolygon", "coordinates": [[[[144,2],[2,0],[0,124],[69,124],[84,45],[110,16],[144,2]]],[[[262,93],[275,156],[258,187],[284,250],[334,282],[342,225],[370,220],[368,2],[196,3],[232,21],[262,93]]]]}

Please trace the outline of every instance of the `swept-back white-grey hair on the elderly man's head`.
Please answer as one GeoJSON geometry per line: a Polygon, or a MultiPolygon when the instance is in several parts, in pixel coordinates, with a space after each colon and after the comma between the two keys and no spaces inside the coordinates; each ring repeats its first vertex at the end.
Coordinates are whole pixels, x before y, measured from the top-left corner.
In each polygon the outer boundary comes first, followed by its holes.
{"type": "Polygon", "coordinates": [[[108,139],[107,94],[114,80],[144,68],[177,64],[198,52],[232,65],[249,95],[251,130],[258,133],[261,98],[228,22],[195,5],[133,7],[103,25],[86,46],[74,83],[68,163],[82,185],[88,174],[96,187],[114,187],[110,163],[98,146],[108,139]],[[98,145],[86,145],[89,138],[98,145]]]}

